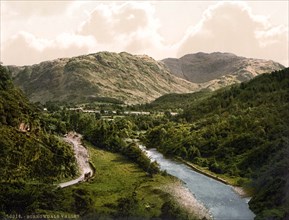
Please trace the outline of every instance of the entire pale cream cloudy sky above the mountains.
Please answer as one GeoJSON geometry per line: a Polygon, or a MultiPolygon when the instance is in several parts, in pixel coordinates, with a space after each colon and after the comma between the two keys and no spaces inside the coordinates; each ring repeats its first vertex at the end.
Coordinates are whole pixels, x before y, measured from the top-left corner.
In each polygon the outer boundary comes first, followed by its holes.
{"type": "Polygon", "coordinates": [[[288,66],[288,0],[4,1],[4,65],[32,65],[99,51],[156,60],[229,52],[288,66]]]}

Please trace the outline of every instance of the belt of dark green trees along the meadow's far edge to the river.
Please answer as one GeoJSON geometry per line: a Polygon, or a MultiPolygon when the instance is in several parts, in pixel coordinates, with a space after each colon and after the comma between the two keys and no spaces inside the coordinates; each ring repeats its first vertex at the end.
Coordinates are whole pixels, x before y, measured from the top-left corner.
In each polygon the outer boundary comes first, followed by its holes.
{"type": "Polygon", "coordinates": [[[96,119],[95,114],[63,110],[51,114],[47,120],[53,125],[47,129],[53,132],[75,130],[95,146],[125,155],[150,175],[159,172],[157,164],[152,163],[136,144],[126,143],[125,139],[133,136],[133,129],[138,129],[131,118],[103,120],[96,119]]]}

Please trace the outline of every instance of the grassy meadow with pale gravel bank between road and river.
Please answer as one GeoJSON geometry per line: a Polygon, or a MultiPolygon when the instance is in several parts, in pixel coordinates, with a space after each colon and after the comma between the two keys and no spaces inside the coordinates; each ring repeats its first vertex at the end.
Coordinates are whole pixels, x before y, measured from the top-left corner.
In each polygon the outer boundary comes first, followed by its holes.
{"type": "Polygon", "coordinates": [[[124,156],[85,144],[92,164],[97,164],[97,176],[83,184],[93,196],[95,209],[115,212],[118,200],[130,198],[134,192],[132,215],[139,219],[160,216],[162,205],[173,200],[190,216],[190,219],[211,219],[209,211],[186,189],[183,182],[171,175],[155,174],[149,177],[136,164],[124,156]],[[114,204],[114,205],[105,205],[114,204]],[[194,218],[197,216],[197,218],[194,218]]]}

